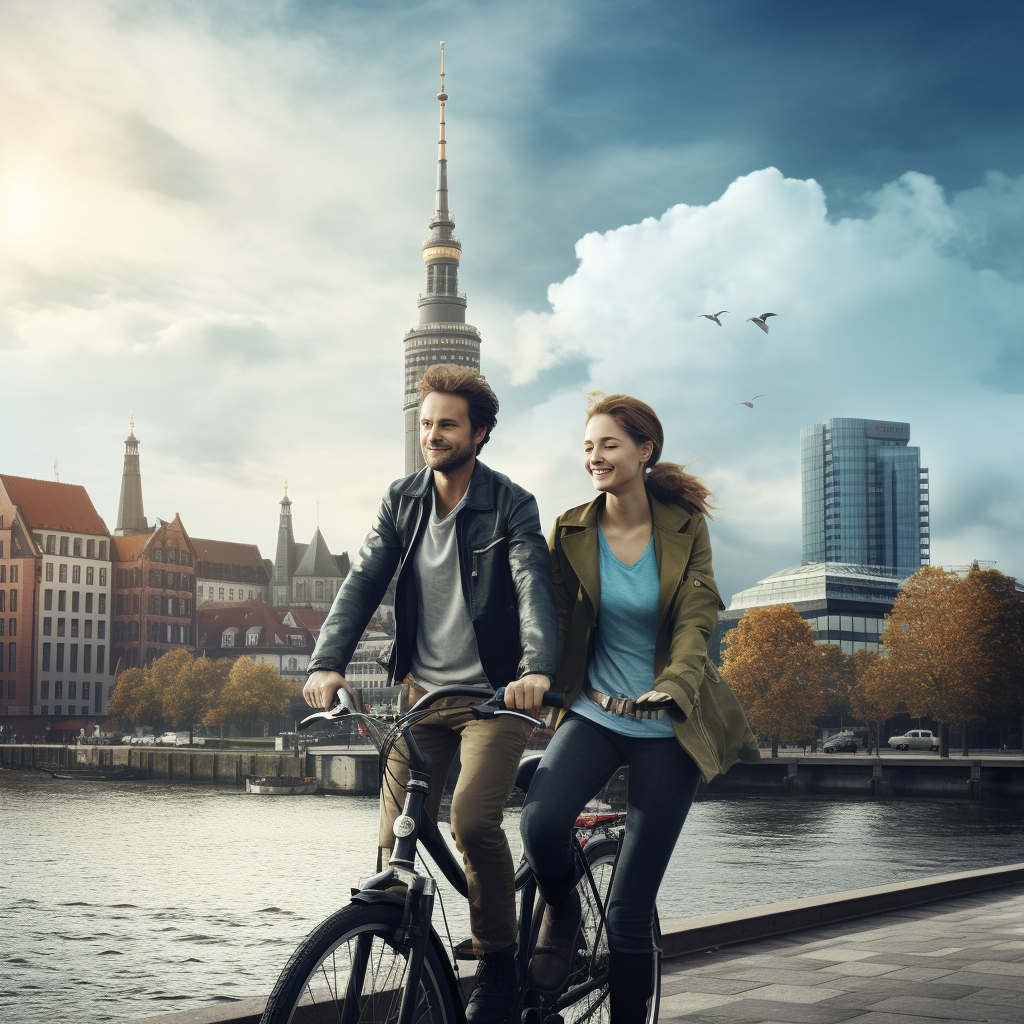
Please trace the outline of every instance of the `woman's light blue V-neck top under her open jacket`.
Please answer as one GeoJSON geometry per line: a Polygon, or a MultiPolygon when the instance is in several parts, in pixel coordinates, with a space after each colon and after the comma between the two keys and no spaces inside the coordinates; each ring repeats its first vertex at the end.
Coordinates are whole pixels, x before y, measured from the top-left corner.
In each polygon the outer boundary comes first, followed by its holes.
{"type": "MultiPolygon", "coordinates": [[[[588,663],[590,685],[600,693],[636,699],[654,688],[654,642],[660,583],[651,536],[644,553],[632,565],[620,561],[598,524],[601,604],[597,637],[588,663]]],[[[586,692],[572,711],[627,736],[674,736],[668,715],[657,719],[620,718],[595,703],[586,692]]]]}

